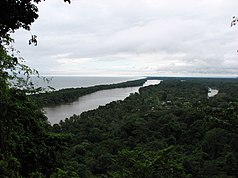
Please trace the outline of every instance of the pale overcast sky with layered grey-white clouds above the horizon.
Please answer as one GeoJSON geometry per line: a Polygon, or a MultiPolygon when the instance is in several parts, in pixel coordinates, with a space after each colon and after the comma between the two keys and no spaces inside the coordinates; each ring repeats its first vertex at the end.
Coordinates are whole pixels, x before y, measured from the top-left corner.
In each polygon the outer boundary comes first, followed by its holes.
{"type": "Polygon", "coordinates": [[[13,34],[42,75],[238,76],[237,0],[71,1],[41,2],[31,31],[13,34]]]}

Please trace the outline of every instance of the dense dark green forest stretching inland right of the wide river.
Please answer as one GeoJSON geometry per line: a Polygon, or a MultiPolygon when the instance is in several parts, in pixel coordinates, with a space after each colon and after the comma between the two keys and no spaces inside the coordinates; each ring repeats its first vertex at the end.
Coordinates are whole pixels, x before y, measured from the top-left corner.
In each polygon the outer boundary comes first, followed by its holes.
{"type": "Polygon", "coordinates": [[[169,79],[54,125],[79,177],[237,177],[238,82],[169,79]],[[219,94],[208,99],[207,87],[219,94]]]}

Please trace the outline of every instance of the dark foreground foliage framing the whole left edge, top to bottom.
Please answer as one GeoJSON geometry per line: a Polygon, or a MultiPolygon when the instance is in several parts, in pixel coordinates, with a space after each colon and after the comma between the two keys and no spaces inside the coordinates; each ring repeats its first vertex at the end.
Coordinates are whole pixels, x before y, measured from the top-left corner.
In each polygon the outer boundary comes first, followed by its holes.
{"type": "MultiPolygon", "coordinates": [[[[10,37],[19,28],[30,30],[38,18],[39,2],[0,1],[0,177],[49,177],[67,144],[67,135],[52,133],[41,109],[27,96],[38,92],[29,81],[30,74],[38,72],[16,57],[10,37]]],[[[36,36],[30,43],[37,43],[36,36]]]]}

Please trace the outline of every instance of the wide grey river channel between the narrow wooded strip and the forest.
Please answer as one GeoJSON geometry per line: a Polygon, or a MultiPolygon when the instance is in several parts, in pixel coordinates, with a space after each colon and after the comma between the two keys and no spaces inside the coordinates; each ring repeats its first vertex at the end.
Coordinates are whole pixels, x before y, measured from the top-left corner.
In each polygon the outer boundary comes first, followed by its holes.
{"type": "MultiPolygon", "coordinates": [[[[147,80],[143,85],[159,84],[160,80],[147,80]]],[[[141,87],[141,86],[140,86],[141,87]]],[[[77,101],[52,107],[45,107],[44,111],[51,124],[59,123],[60,120],[69,118],[73,114],[81,114],[84,111],[96,109],[112,101],[124,100],[131,93],[138,92],[140,87],[115,88],[101,90],[92,94],[79,97],[77,101]]]]}

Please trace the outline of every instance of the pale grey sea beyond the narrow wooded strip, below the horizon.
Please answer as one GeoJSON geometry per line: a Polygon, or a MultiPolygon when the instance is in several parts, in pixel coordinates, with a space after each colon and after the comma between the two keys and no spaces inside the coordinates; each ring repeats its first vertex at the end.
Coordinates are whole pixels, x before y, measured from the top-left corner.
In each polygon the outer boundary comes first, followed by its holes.
{"type": "Polygon", "coordinates": [[[59,90],[62,88],[89,87],[94,85],[120,83],[128,80],[141,79],[143,77],[46,76],[46,78],[50,79],[49,83],[43,82],[42,79],[37,79],[36,77],[32,77],[32,80],[37,86],[51,86],[56,90],[59,90]]]}

